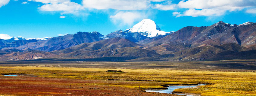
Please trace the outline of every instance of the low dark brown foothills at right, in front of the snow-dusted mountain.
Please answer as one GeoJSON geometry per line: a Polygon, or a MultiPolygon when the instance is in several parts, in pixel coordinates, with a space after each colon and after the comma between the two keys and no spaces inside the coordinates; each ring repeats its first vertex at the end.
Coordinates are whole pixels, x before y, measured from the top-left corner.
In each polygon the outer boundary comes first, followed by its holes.
{"type": "MultiPolygon", "coordinates": [[[[153,57],[143,57],[133,59],[131,61],[197,61],[197,60],[207,60],[216,58],[216,60],[225,60],[230,58],[239,58],[241,53],[254,52],[248,48],[240,46],[235,43],[223,44],[223,45],[215,45],[215,46],[200,46],[185,50],[180,50],[176,52],[172,52],[170,54],[163,54],[153,57]],[[240,54],[240,55],[235,55],[240,54]],[[230,57],[229,57],[230,56],[230,57]]],[[[252,59],[256,56],[255,53],[250,53],[245,55],[245,57],[252,59]],[[248,57],[247,57],[248,56],[248,57]]]]}

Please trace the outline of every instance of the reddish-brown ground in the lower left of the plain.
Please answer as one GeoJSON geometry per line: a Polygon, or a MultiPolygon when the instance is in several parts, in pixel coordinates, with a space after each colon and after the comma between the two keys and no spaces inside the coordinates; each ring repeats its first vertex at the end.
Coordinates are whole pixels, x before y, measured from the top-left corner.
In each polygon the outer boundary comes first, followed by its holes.
{"type": "Polygon", "coordinates": [[[18,96],[178,96],[144,92],[138,88],[125,88],[96,83],[114,83],[111,80],[78,80],[31,76],[0,76],[0,95],[18,96]],[[70,86],[71,85],[71,86],[70,86]]]}

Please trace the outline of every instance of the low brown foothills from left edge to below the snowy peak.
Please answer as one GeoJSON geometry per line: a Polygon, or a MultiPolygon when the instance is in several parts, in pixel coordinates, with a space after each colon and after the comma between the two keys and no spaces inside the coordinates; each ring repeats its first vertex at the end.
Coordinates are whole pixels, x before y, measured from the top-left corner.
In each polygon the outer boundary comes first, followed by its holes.
{"type": "MultiPolygon", "coordinates": [[[[6,51],[3,53],[6,53],[6,51]]],[[[142,45],[136,44],[128,39],[111,38],[92,43],[83,43],[52,52],[33,50],[22,52],[21,50],[17,50],[17,52],[10,52],[8,54],[0,55],[0,60],[29,60],[39,58],[90,59],[106,57],[111,57],[112,59],[118,58],[122,60],[130,60],[156,55],[159,54],[150,50],[142,49],[142,45]]]]}

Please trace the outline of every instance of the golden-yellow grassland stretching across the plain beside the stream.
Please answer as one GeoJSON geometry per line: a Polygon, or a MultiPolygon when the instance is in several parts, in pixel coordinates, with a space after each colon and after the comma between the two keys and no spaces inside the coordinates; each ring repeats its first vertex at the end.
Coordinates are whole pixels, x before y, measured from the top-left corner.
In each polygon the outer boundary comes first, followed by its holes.
{"type": "Polygon", "coordinates": [[[195,93],[201,96],[256,96],[256,73],[254,72],[2,66],[0,67],[0,73],[32,74],[47,78],[104,80],[106,82],[86,83],[85,85],[109,85],[144,89],[163,89],[167,85],[178,84],[208,84],[197,88],[176,89],[174,92],[195,93]],[[107,70],[122,70],[123,72],[106,72],[107,70]],[[116,82],[107,82],[110,80],[116,80],[116,82]]]}

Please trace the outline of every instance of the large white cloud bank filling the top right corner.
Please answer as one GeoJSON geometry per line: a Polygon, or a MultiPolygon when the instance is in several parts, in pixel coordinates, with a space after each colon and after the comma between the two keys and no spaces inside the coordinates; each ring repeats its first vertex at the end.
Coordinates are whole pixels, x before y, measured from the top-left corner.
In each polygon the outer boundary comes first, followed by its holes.
{"type": "Polygon", "coordinates": [[[237,11],[247,7],[255,7],[255,0],[182,0],[177,4],[180,8],[188,8],[183,13],[174,12],[179,16],[220,16],[226,11],[237,11]]]}

